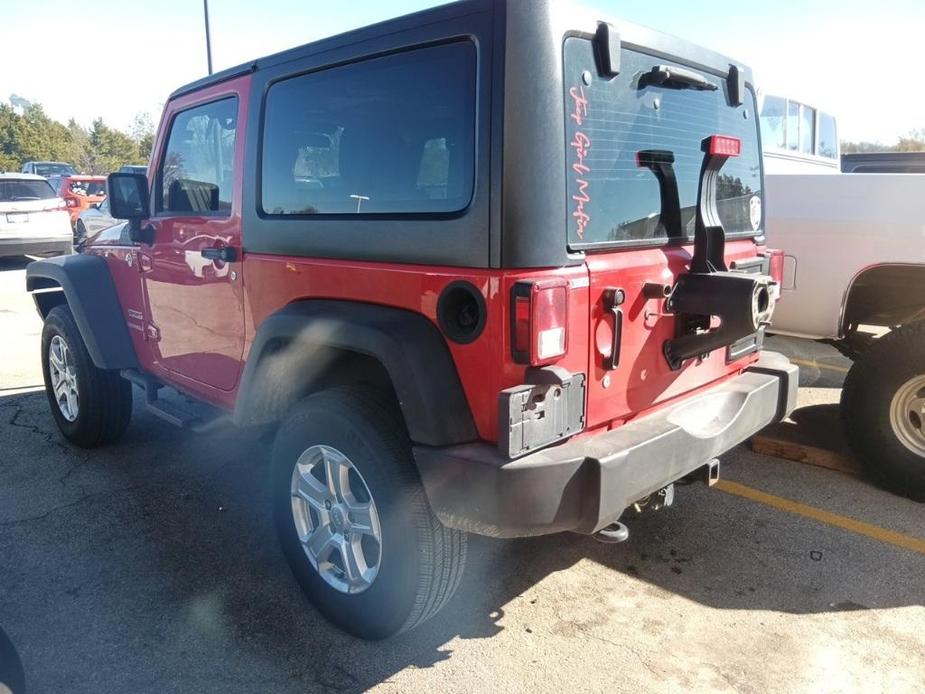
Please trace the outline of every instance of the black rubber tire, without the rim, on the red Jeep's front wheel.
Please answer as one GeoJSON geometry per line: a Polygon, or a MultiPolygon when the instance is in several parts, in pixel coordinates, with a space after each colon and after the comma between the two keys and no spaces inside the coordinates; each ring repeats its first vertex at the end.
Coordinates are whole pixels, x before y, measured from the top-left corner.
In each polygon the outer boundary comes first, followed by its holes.
{"type": "Polygon", "coordinates": [[[52,417],[68,441],[83,448],[94,448],[113,443],[125,433],[132,417],[132,384],[117,371],[98,369],[93,364],[67,305],[55,306],[45,317],[42,376],[52,417]],[[65,417],[53,392],[48,352],[55,336],[64,340],[73,358],[78,395],[77,415],[73,421],[65,417]]]}

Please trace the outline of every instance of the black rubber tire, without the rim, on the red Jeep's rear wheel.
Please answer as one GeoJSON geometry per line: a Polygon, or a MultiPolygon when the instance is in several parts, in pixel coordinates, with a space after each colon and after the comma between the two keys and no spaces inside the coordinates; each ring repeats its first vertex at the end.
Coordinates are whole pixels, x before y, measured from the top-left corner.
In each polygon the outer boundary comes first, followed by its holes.
{"type": "Polygon", "coordinates": [[[396,407],[364,388],[323,391],[295,406],[273,446],[274,516],[289,565],[325,617],[364,639],[386,638],[434,616],[456,591],[466,560],[465,533],[445,528],[427,503],[396,407]],[[293,470],[303,452],[317,445],[350,460],[378,509],[378,575],[363,592],[329,585],[296,531],[293,470]]]}

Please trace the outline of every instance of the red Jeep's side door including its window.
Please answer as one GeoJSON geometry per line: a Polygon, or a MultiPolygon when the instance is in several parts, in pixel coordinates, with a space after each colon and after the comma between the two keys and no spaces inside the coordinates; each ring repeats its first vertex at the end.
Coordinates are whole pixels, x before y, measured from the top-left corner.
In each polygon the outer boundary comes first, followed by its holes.
{"type": "Polygon", "coordinates": [[[240,172],[249,78],[168,106],[158,143],[144,252],[149,333],[158,369],[221,391],[233,390],[244,351],[240,257],[208,259],[227,247],[240,255],[240,172]]]}

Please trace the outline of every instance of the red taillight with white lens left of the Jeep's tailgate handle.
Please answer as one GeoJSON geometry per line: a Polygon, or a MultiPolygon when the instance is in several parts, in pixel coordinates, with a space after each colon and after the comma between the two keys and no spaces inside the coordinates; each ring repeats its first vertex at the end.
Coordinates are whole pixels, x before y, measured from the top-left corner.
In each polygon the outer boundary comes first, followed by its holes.
{"type": "Polygon", "coordinates": [[[514,361],[530,366],[551,364],[568,347],[568,282],[518,282],[511,294],[511,341],[514,361]]]}

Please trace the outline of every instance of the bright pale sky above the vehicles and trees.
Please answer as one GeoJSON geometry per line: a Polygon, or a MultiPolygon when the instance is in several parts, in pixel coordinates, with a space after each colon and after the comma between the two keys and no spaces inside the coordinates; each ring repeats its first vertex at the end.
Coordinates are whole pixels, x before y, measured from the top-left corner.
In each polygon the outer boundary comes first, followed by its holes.
{"type": "MultiPolygon", "coordinates": [[[[210,0],[212,60],[231,67],[441,0],[210,0]]],[[[842,140],[925,129],[923,0],[583,0],[750,65],[765,93],[838,118],[842,140]]],[[[0,0],[0,101],[128,129],[206,74],[201,0],[0,0]]]]}

